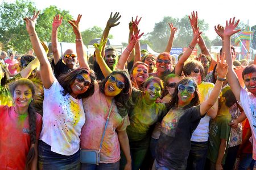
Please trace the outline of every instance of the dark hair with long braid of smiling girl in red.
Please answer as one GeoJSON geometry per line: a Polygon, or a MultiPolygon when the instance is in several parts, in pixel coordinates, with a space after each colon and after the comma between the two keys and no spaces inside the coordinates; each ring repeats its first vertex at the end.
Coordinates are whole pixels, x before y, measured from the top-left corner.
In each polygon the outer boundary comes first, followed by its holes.
{"type": "MultiPolygon", "coordinates": [[[[32,96],[35,95],[35,86],[32,81],[28,80],[27,78],[20,78],[17,81],[14,81],[12,84],[10,84],[10,92],[11,95],[14,96],[14,90],[18,85],[27,85],[28,88],[32,91],[32,96]]],[[[36,143],[36,112],[34,108],[31,106],[31,103],[28,105],[28,122],[30,124],[30,142],[31,142],[31,148],[28,151],[27,159],[26,159],[26,168],[30,169],[32,160],[35,157],[35,143],[36,143]]],[[[37,149],[37,148],[36,148],[37,149]]]]}

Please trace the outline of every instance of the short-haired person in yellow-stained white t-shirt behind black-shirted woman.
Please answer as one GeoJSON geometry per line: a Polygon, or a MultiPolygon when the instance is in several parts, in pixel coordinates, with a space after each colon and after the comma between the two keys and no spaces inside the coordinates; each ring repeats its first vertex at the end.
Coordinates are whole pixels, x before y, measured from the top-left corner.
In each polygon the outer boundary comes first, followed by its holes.
{"type": "MultiPolygon", "coordinates": [[[[214,88],[214,84],[204,82],[204,67],[197,60],[188,61],[183,68],[186,77],[193,78],[197,82],[200,94],[200,102],[207,100],[214,88]]],[[[191,151],[188,157],[188,168],[201,169],[204,167],[209,138],[210,118],[214,119],[217,115],[218,101],[210,108],[204,118],[200,120],[199,125],[192,134],[191,151]]]]}

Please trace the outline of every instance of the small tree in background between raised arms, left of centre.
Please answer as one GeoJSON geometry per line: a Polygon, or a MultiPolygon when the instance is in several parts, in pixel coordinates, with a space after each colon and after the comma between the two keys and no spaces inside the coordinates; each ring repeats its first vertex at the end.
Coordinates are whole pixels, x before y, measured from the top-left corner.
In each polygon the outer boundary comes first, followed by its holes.
{"type": "MultiPolygon", "coordinates": [[[[86,29],[85,31],[82,31],[81,34],[82,34],[82,40],[84,44],[88,45],[91,40],[96,38],[101,38],[102,32],[103,30],[101,29],[101,27],[97,27],[97,26],[94,26],[92,28],[86,29]]],[[[111,37],[109,36],[109,38],[111,37]]]]}

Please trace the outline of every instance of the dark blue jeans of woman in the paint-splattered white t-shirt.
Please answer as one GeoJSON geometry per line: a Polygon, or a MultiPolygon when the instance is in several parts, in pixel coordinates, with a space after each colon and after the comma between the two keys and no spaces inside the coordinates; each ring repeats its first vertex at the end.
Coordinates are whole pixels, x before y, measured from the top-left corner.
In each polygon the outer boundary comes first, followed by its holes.
{"type": "Polygon", "coordinates": [[[70,156],[60,155],[51,151],[51,146],[39,140],[39,169],[46,170],[80,170],[80,151],[70,156]]]}

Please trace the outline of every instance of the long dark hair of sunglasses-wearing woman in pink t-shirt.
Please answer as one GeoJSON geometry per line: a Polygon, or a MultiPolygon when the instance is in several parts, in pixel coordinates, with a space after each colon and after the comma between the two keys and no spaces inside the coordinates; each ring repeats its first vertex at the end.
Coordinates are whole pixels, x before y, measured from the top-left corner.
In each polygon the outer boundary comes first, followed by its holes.
{"type": "Polygon", "coordinates": [[[105,94],[105,84],[109,80],[109,77],[115,74],[121,74],[123,78],[125,78],[125,88],[117,96],[114,97],[115,105],[117,105],[118,113],[121,115],[121,117],[125,117],[127,115],[127,109],[129,109],[129,107],[133,105],[133,103],[130,100],[132,85],[131,85],[129,73],[123,70],[113,71],[112,73],[109,74],[108,77],[106,77],[104,80],[102,80],[99,83],[100,92],[105,94]]]}

